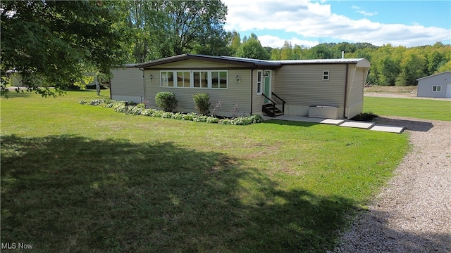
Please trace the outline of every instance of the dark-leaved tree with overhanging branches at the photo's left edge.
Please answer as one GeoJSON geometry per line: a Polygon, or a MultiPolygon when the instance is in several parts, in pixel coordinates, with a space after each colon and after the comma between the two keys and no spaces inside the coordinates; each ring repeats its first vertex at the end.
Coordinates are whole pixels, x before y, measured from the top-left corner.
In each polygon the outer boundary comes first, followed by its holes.
{"type": "Polygon", "coordinates": [[[117,17],[102,1],[0,1],[1,70],[18,72],[42,96],[87,69],[109,73],[124,53],[117,17]]]}

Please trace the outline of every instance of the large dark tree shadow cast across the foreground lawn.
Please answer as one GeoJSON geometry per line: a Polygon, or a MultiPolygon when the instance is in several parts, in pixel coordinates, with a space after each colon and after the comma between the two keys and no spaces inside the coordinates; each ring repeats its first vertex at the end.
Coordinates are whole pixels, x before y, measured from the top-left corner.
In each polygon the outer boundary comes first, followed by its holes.
{"type": "Polygon", "coordinates": [[[1,136],[1,242],[35,252],[324,252],[353,209],[173,143],[1,136]]]}

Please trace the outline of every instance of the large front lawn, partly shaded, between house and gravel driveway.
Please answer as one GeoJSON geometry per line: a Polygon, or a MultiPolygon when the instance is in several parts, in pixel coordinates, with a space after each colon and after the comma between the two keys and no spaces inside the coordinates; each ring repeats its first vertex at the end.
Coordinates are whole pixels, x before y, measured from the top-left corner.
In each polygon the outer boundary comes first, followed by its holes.
{"type": "Polygon", "coordinates": [[[325,252],[408,149],[407,133],[206,124],[78,104],[94,98],[1,99],[2,243],[35,252],[325,252]]]}

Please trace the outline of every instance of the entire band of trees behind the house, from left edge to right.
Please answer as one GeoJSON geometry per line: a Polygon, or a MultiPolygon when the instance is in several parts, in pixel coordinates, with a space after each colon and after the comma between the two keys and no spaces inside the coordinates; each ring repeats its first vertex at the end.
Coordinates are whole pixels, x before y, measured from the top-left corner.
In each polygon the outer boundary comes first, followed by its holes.
{"type": "MultiPolygon", "coordinates": [[[[1,74],[20,73],[23,84],[42,95],[74,84],[85,72],[109,74],[111,67],[182,53],[264,60],[366,58],[368,81],[414,85],[416,78],[451,70],[451,47],[373,46],[324,43],[307,48],[285,41],[261,46],[255,34],[226,31],[221,1],[0,1],[1,74]]],[[[2,82],[4,79],[1,79],[2,82]]],[[[2,84],[4,90],[4,84],[2,84]]]]}

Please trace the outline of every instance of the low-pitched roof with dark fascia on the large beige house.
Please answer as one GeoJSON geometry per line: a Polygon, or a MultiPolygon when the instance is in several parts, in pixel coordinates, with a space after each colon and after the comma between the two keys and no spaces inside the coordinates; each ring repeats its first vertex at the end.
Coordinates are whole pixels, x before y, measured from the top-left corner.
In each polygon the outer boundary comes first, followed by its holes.
{"type": "Polygon", "coordinates": [[[333,63],[356,63],[357,67],[370,67],[371,63],[364,58],[341,58],[341,59],[315,59],[315,60],[258,60],[251,58],[240,58],[232,56],[205,56],[198,54],[186,53],[179,56],[171,56],[158,60],[151,60],[146,63],[138,63],[135,67],[152,67],[165,63],[174,63],[180,60],[206,60],[216,63],[229,63],[234,65],[241,65],[250,68],[268,69],[278,68],[282,65],[301,65],[301,64],[333,64],[333,63]]]}

